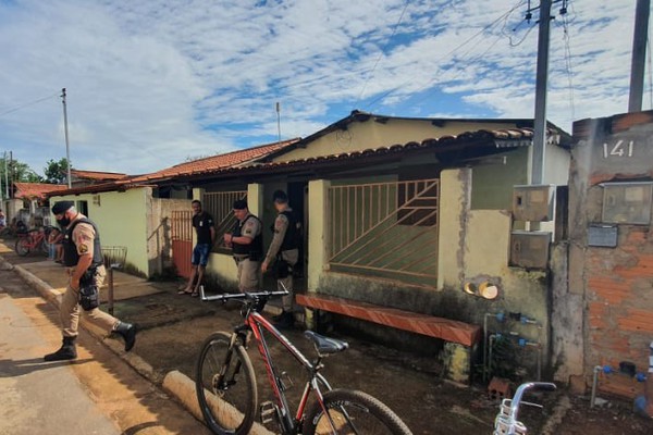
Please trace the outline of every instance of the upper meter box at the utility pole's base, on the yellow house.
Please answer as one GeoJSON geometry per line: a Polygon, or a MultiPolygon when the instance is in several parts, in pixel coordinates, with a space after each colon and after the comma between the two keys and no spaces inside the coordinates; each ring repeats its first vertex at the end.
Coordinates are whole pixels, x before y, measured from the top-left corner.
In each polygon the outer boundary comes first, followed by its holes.
{"type": "Polygon", "coordinates": [[[555,186],[552,184],[514,186],[513,216],[516,221],[553,221],[555,186]]]}

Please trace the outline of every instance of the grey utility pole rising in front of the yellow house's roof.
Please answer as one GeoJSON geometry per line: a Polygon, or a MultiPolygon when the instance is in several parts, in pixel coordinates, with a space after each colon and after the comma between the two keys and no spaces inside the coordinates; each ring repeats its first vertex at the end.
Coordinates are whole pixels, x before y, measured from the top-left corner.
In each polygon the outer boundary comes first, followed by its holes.
{"type": "MultiPolygon", "coordinates": [[[[538,73],[535,82],[535,121],[531,184],[542,184],[546,158],[546,90],[549,80],[549,33],[551,28],[552,0],[540,1],[540,27],[538,35],[538,73]]],[[[530,11],[529,11],[530,14],[530,11]]]]}

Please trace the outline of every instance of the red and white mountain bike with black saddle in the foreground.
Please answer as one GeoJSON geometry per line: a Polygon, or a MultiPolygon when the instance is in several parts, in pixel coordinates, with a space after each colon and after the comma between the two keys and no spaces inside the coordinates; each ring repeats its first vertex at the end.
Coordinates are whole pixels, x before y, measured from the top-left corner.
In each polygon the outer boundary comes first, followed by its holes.
{"type": "Polygon", "coordinates": [[[333,389],[320,373],[322,360],[347,349],[346,341],[306,331],[305,336],[312,341],[317,352],[317,358],[311,362],[260,314],[269,298],[287,294],[260,291],[206,296],[204,286],[200,286],[201,300],[237,300],[243,304],[241,314],[244,318],[244,323],[234,327],[232,333],[211,334],[202,344],[197,360],[197,399],[209,428],[219,435],[249,434],[257,411],[260,411],[261,422],[275,422],[284,435],[410,435],[408,426],[379,399],[358,390],[333,389]],[[308,372],[308,381],[294,414],[291,414],[285,395],[288,387],[282,377],[285,373],[279,373],[274,365],[263,332],[281,343],[284,350],[308,372]],[[257,409],[256,374],[246,350],[252,336],[275,400],[262,403],[260,409],[257,409]],[[311,393],[316,399],[307,408],[311,393]]]}

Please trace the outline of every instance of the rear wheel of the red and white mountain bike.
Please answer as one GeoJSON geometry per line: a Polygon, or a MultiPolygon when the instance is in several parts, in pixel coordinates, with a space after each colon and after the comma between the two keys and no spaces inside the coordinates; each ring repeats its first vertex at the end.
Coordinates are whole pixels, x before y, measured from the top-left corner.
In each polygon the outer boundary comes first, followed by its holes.
{"type": "Polygon", "coordinates": [[[411,435],[397,414],[367,393],[334,389],[323,397],[326,412],[316,401],[306,414],[304,435],[411,435]]]}

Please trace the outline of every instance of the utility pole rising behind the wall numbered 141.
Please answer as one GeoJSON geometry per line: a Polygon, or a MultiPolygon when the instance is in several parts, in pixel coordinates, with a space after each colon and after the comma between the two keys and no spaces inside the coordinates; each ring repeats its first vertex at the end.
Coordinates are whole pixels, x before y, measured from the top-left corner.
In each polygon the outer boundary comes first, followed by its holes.
{"type": "Polygon", "coordinates": [[[632,60],[630,63],[630,97],[628,112],[641,112],[646,66],[646,39],[651,0],[637,0],[634,11],[634,35],[632,36],[632,60]]]}

